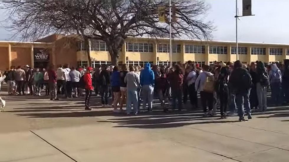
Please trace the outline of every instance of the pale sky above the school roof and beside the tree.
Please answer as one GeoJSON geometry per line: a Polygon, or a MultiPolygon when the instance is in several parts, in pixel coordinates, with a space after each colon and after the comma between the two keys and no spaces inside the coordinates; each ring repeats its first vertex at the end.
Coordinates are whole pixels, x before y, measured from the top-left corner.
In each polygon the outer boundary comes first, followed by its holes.
{"type": "MultiPolygon", "coordinates": [[[[238,2],[239,14],[242,14],[242,1],[238,2]]],[[[207,0],[206,3],[211,6],[206,19],[216,27],[212,39],[235,41],[235,0],[207,0]]],[[[256,16],[240,18],[239,41],[289,44],[288,6],[289,0],[252,0],[252,14],[256,16]]],[[[10,32],[0,27],[0,40],[10,40],[10,37],[10,32]]]]}

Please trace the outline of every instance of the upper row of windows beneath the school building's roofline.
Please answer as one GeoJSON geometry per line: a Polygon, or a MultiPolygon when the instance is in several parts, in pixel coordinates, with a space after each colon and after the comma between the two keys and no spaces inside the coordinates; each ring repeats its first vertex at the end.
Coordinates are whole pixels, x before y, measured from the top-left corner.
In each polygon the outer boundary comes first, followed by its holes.
{"type": "MultiPolygon", "coordinates": [[[[152,52],[153,44],[148,43],[126,43],[128,52],[152,52]]],[[[181,45],[173,45],[172,47],[173,53],[180,53],[181,45]]],[[[81,42],[79,44],[78,50],[85,51],[85,44],[81,42]]],[[[108,51],[106,47],[106,43],[102,41],[91,41],[91,51],[108,51]]],[[[159,53],[168,53],[170,52],[169,44],[158,44],[157,52],[159,53]]],[[[270,48],[270,55],[282,55],[283,49],[280,48],[270,48]]],[[[185,45],[185,53],[190,54],[204,54],[205,46],[197,46],[197,45],[185,45]]],[[[209,47],[210,54],[227,54],[226,46],[210,46],[209,47]]],[[[237,54],[237,47],[231,47],[231,54],[237,54]]],[[[238,54],[247,54],[247,47],[238,47],[238,54]]],[[[252,55],[266,55],[266,48],[261,47],[252,47],[251,48],[252,55]]],[[[286,55],[289,55],[289,49],[286,50],[286,55]]]]}

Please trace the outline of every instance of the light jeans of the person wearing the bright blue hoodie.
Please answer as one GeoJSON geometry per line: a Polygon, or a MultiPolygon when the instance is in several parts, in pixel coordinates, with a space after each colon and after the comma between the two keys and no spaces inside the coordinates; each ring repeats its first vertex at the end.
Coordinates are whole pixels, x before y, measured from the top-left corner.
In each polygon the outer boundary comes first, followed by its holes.
{"type": "Polygon", "coordinates": [[[142,86],[142,107],[145,110],[148,103],[149,111],[152,110],[152,100],[154,96],[154,87],[152,85],[143,85],[142,86]]]}

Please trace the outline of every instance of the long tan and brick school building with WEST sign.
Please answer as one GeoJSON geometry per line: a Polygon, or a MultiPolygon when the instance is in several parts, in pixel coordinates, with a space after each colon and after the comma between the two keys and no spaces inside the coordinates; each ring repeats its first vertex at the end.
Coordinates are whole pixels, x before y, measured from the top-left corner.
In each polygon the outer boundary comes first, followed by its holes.
{"type": "MultiPolygon", "coordinates": [[[[144,66],[146,62],[169,65],[169,39],[133,38],[125,40],[119,64],[144,66]]],[[[173,39],[172,63],[196,61],[212,64],[213,61],[236,61],[236,44],[230,41],[199,41],[173,39]]],[[[272,63],[289,59],[289,44],[239,42],[239,60],[244,64],[254,61],[272,63]]],[[[106,43],[90,41],[92,67],[111,64],[106,43]]],[[[47,64],[87,66],[88,57],[84,43],[72,35],[52,34],[35,42],[0,41],[0,70],[10,66],[46,67],[47,64]]]]}

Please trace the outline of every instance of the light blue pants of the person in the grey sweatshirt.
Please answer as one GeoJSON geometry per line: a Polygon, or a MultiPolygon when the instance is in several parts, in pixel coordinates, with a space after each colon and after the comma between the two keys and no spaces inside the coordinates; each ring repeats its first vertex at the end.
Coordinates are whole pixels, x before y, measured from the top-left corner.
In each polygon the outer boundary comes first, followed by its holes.
{"type": "Polygon", "coordinates": [[[127,114],[132,111],[132,104],[134,108],[134,114],[137,114],[138,100],[137,100],[137,90],[127,90],[127,114]]]}

